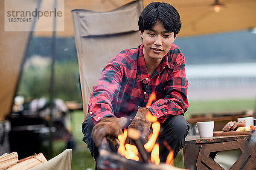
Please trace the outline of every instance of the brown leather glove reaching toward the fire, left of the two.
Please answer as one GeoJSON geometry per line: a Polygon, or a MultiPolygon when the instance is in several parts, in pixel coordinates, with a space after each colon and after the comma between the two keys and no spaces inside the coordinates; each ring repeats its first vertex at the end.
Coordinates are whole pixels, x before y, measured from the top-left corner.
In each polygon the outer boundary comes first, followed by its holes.
{"type": "Polygon", "coordinates": [[[125,117],[117,118],[116,116],[111,116],[102,118],[92,130],[92,137],[95,142],[95,146],[99,147],[102,139],[107,135],[117,138],[118,135],[122,134],[122,127],[126,122],[127,119],[125,117]]]}

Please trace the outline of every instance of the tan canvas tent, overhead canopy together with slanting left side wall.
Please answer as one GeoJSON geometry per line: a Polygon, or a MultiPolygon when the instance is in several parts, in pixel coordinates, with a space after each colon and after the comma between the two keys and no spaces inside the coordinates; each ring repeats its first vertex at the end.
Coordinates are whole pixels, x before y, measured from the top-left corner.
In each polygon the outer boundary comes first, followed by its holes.
{"type": "MultiPolygon", "coordinates": [[[[110,11],[131,1],[64,0],[64,31],[57,31],[56,36],[74,36],[70,12],[73,9],[110,11]]],[[[20,68],[22,68],[22,61],[30,35],[30,32],[4,31],[4,2],[5,0],[0,0],[0,120],[5,119],[6,115],[11,112],[12,101],[20,76],[20,68]]],[[[41,0],[41,2],[42,8],[44,8],[44,5],[52,5],[52,1],[41,0]]],[[[151,2],[153,0],[143,0],[143,7],[151,2]]],[[[172,4],[180,13],[182,27],[178,38],[256,27],[255,0],[219,0],[218,2],[222,4],[222,9],[219,12],[212,10],[212,4],[215,0],[163,0],[163,2],[172,4]]],[[[36,3],[36,0],[26,0],[26,8],[27,6],[35,8],[37,6],[36,3]]],[[[58,23],[61,22],[57,20],[57,28],[58,23]]],[[[36,25],[35,28],[52,25],[52,20],[41,20],[41,24],[36,25]]],[[[38,37],[51,37],[52,31],[38,31],[33,32],[33,34],[38,37]]]]}

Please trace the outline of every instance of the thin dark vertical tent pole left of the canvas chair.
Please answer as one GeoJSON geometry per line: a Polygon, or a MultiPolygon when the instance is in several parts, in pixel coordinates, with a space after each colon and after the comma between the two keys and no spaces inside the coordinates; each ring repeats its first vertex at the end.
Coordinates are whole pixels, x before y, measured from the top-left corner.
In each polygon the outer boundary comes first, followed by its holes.
{"type": "MultiPolygon", "coordinates": [[[[57,8],[57,0],[54,0],[53,3],[53,9],[57,8]]],[[[49,137],[49,154],[51,157],[52,155],[52,127],[53,127],[53,122],[52,122],[52,109],[54,106],[54,63],[55,63],[55,38],[56,38],[56,17],[53,17],[53,31],[52,31],[52,57],[51,57],[51,79],[50,79],[50,87],[49,87],[49,102],[50,102],[50,120],[49,120],[49,128],[50,128],[50,137],[49,137]]]]}

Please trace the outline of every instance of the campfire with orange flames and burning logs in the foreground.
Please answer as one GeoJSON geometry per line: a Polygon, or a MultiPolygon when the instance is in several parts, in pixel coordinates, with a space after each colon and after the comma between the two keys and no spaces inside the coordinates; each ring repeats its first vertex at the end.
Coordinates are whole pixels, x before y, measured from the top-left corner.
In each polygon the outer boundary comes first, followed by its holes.
{"type": "MultiPolygon", "coordinates": [[[[151,94],[147,106],[156,99],[156,95],[151,94]]],[[[147,113],[146,119],[152,123],[152,133],[149,136],[148,142],[142,144],[140,139],[140,131],[136,129],[124,130],[124,133],[118,136],[119,147],[117,154],[111,152],[106,139],[103,140],[99,153],[98,166],[101,169],[122,169],[122,170],[180,170],[173,167],[173,150],[164,142],[164,145],[169,150],[169,155],[166,159],[166,164],[160,163],[159,144],[157,137],[160,132],[160,122],[150,112],[147,113]],[[134,140],[136,145],[125,144],[127,136],[134,140]]]]}

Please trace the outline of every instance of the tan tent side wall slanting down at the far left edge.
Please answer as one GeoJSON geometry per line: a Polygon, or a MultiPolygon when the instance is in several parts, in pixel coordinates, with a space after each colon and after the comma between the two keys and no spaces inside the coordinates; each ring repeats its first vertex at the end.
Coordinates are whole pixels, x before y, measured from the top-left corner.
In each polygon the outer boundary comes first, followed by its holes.
{"type": "MultiPolygon", "coordinates": [[[[36,8],[37,3],[28,4],[36,8]]],[[[11,113],[29,32],[4,30],[4,0],[0,0],[0,121],[11,113]]],[[[31,23],[27,23],[31,26],[31,23]]]]}

